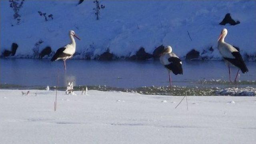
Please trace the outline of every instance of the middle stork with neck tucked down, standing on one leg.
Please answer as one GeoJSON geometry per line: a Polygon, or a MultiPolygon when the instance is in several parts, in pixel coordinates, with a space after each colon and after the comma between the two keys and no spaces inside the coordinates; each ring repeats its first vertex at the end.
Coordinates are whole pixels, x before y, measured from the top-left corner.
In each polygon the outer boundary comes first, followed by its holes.
{"type": "Polygon", "coordinates": [[[171,46],[166,46],[166,48],[160,54],[160,62],[168,70],[170,87],[172,88],[172,79],[170,72],[172,71],[175,75],[183,74],[182,62],[176,54],[172,52],[171,46]]]}

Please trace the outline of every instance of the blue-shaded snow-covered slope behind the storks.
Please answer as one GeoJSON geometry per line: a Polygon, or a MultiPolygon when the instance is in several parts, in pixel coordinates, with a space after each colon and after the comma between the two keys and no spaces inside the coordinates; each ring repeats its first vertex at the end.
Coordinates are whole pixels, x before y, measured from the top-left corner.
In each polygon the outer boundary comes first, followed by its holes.
{"type": "Polygon", "coordinates": [[[32,48],[42,40],[39,49],[46,46],[56,51],[70,40],[68,31],[74,30],[82,39],[77,41],[75,58],[92,58],[106,52],[117,57],[129,57],[140,47],[151,53],[161,44],[171,45],[178,56],[196,49],[219,60],[217,39],[222,28],[228,29],[226,41],[238,46],[243,55],[256,55],[256,1],[255,0],[100,0],[105,6],[96,20],[92,0],[76,6],[76,0],[25,1],[20,10],[21,22],[16,24],[8,0],[1,0],[1,52],[10,49],[12,42],[19,47],[16,57],[33,57],[32,48]],[[38,11],[53,14],[53,20],[44,21],[38,11]],[[221,26],[225,14],[231,13],[236,26],[221,26]],[[14,25],[14,26],[12,26],[14,25]],[[192,38],[190,40],[188,32],[192,38]]]}

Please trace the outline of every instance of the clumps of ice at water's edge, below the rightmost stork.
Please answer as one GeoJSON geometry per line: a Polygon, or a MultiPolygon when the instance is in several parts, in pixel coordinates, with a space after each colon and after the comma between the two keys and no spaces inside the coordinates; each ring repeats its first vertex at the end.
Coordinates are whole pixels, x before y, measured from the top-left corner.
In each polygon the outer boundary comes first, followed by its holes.
{"type": "Polygon", "coordinates": [[[225,88],[222,90],[217,90],[216,94],[223,96],[256,96],[256,88],[225,88]]]}

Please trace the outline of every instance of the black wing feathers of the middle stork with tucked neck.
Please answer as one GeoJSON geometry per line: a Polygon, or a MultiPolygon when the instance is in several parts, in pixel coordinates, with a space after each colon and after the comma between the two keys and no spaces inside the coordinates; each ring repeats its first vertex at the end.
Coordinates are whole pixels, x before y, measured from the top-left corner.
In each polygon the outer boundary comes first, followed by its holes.
{"type": "Polygon", "coordinates": [[[168,61],[170,62],[170,64],[164,65],[166,68],[171,70],[175,75],[183,74],[182,63],[180,58],[170,57],[168,58],[168,61]]]}

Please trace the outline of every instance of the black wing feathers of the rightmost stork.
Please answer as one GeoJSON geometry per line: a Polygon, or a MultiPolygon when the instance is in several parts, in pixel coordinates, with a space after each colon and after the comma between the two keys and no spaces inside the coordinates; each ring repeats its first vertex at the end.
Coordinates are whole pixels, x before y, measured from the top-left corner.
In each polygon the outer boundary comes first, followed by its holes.
{"type": "Polygon", "coordinates": [[[231,64],[241,69],[242,73],[248,72],[248,68],[246,67],[244,60],[240,54],[240,52],[232,52],[232,55],[235,58],[225,58],[225,60],[228,60],[231,64]]]}

